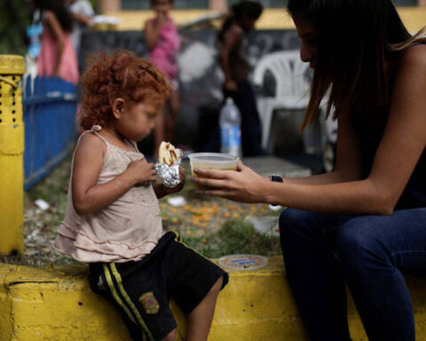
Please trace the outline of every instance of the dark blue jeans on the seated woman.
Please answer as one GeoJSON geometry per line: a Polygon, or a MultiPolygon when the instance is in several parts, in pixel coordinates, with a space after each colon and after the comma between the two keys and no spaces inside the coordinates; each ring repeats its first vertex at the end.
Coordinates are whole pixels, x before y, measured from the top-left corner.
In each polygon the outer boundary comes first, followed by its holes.
{"type": "Polygon", "coordinates": [[[426,208],[391,216],[284,210],[281,248],[288,282],[313,341],[348,341],[345,285],[370,341],[414,340],[401,274],[426,277],[426,208]]]}

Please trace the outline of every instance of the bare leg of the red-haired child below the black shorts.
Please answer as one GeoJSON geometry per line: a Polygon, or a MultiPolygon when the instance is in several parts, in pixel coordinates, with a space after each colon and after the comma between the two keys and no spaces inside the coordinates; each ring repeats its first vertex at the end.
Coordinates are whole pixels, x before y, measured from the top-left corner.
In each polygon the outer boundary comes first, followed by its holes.
{"type": "Polygon", "coordinates": [[[207,340],[211,321],[213,320],[213,313],[215,313],[217,295],[222,288],[223,281],[224,277],[219,277],[206,297],[188,315],[186,341],[207,340]]]}

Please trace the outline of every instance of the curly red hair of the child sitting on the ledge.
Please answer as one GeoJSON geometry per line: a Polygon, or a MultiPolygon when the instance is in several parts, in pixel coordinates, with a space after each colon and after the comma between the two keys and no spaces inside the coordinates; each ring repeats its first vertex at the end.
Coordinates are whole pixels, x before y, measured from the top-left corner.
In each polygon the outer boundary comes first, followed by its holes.
{"type": "Polygon", "coordinates": [[[82,83],[83,107],[79,123],[83,129],[98,124],[105,127],[112,117],[114,99],[158,101],[173,91],[170,83],[151,62],[133,52],[117,51],[91,55],[82,83]]]}

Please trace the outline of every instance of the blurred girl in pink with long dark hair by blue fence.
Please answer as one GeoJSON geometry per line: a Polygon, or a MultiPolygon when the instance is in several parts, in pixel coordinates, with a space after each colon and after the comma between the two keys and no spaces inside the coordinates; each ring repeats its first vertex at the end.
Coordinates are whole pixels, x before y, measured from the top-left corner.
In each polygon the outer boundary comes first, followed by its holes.
{"type": "Polygon", "coordinates": [[[72,17],[63,0],[33,0],[41,12],[43,33],[42,50],[37,59],[38,75],[57,76],[67,82],[78,83],[78,62],[69,33],[72,17]]]}

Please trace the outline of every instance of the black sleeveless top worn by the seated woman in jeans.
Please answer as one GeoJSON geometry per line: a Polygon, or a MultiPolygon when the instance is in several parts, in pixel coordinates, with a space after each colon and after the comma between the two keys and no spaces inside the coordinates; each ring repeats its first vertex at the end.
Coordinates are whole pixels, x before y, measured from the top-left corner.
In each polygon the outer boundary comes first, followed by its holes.
{"type": "MultiPolygon", "coordinates": [[[[426,44],[423,41],[422,44],[426,44]]],[[[375,116],[363,115],[362,110],[353,110],[352,120],[361,149],[362,177],[367,178],[373,167],[375,153],[382,141],[388,121],[390,105],[375,108],[375,116]]],[[[426,108],[425,108],[426,113],[426,108]]],[[[426,149],[417,162],[404,192],[399,197],[395,210],[426,207],[426,149]]]]}

